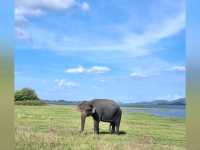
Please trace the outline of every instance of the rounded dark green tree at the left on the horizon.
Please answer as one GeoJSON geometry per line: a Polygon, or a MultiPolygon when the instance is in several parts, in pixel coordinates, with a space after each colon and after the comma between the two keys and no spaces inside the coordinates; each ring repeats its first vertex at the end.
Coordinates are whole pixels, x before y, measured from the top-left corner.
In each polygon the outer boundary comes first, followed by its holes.
{"type": "Polygon", "coordinates": [[[31,88],[23,88],[15,92],[15,101],[40,100],[31,88]]]}

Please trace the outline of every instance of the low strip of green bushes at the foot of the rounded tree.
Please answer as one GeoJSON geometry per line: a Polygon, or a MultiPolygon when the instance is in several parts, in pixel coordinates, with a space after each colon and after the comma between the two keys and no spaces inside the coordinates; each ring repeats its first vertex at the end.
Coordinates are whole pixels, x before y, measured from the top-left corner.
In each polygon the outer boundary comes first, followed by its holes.
{"type": "Polygon", "coordinates": [[[46,102],[40,100],[25,100],[25,101],[15,101],[16,105],[29,105],[29,106],[44,106],[47,105],[46,102]]]}

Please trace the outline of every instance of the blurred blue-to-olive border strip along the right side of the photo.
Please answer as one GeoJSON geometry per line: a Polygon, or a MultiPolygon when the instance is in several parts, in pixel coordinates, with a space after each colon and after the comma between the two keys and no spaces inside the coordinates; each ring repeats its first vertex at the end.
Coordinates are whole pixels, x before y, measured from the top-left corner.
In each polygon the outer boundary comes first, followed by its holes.
{"type": "Polygon", "coordinates": [[[186,4],[186,148],[200,150],[200,7],[186,4]]]}

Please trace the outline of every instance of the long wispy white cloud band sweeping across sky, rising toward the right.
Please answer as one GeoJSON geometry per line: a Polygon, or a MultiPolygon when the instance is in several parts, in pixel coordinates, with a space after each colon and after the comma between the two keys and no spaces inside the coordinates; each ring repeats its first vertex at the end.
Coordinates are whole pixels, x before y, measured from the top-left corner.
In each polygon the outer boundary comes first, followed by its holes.
{"type": "MultiPolygon", "coordinates": [[[[32,46],[37,49],[50,49],[57,52],[66,51],[123,51],[128,52],[131,56],[144,56],[151,53],[154,49],[153,44],[160,40],[176,35],[185,27],[185,13],[177,16],[163,19],[159,24],[147,25],[142,33],[134,33],[131,31],[122,31],[120,37],[115,39],[98,38],[87,36],[88,38],[60,35],[57,33],[46,31],[46,29],[38,29],[38,27],[30,28],[32,34],[32,46]],[[166,20],[165,20],[166,19],[166,20]],[[36,35],[37,34],[37,35],[36,35]],[[38,37],[39,36],[39,37],[38,37]],[[46,38],[46,37],[50,38],[46,38]]],[[[129,27],[127,27],[129,28],[129,27]]],[[[128,30],[128,29],[127,29],[128,30]]]]}

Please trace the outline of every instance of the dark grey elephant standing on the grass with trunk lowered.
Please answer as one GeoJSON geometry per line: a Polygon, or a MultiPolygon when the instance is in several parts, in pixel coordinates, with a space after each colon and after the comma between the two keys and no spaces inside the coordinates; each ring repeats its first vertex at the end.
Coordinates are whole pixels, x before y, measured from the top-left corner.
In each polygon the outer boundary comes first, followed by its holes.
{"type": "Polygon", "coordinates": [[[91,116],[94,120],[94,134],[99,134],[100,121],[110,123],[109,131],[111,134],[119,134],[122,110],[113,100],[82,101],[78,105],[78,110],[81,112],[81,133],[84,131],[86,117],[91,116]]]}

